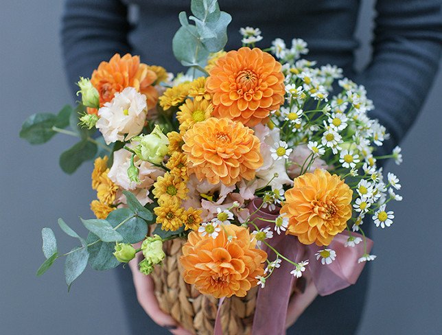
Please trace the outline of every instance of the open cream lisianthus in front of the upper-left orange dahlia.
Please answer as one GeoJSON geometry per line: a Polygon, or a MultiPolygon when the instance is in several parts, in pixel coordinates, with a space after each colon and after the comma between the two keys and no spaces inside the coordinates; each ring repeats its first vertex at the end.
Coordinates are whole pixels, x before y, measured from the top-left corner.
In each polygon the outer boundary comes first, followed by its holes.
{"type": "Polygon", "coordinates": [[[128,140],[143,129],[147,111],[146,96],[127,87],[98,110],[100,119],[95,127],[102,132],[107,144],[128,140]]]}

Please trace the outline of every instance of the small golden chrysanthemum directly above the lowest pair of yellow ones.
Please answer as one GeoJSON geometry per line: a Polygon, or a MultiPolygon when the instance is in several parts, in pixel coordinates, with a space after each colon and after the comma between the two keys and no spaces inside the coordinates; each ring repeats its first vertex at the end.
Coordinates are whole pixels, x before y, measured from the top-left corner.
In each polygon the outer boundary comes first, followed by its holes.
{"type": "Polygon", "coordinates": [[[187,198],[189,189],[182,178],[174,176],[167,172],[163,177],[159,176],[154,183],[152,193],[158,199],[161,205],[166,200],[173,200],[175,203],[181,203],[181,200],[187,198]]]}

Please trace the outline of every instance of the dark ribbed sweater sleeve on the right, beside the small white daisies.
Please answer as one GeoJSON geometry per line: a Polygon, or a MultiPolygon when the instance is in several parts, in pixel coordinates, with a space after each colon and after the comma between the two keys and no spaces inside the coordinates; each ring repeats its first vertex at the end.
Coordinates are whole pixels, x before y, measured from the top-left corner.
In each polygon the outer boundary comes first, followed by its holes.
{"type": "Polygon", "coordinates": [[[373,57],[359,82],[391,138],[381,154],[406,135],[437,73],[442,49],[441,0],[377,0],[373,57]]]}

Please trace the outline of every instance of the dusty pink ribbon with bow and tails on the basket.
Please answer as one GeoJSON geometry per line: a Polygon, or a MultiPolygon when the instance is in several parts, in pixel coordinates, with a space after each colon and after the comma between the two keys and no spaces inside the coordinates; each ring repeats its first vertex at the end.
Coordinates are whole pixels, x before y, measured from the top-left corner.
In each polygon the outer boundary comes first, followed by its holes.
{"type": "MultiPolygon", "coordinates": [[[[254,220],[257,227],[265,228],[271,225],[264,220],[275,220],[279,216],[279,208],[274,211],[258,210],[261,199],[256,198],[248,205],[251,213],[251,220],[254,220]]],[[[358,233],[352,233],[354,237],[362,238],[358,233]]],[[[273,235],[268,240],[273,248],[279,253],[294,262],[301,262],[309,259],[309,264],[305,269],[306,275],[312,277],[318,294],[321,296],[332,294],[351,284],[355,284],[362,272],[365,262],[358,263],[358,259],[364,254],[364,244],[356,244],[353,247],[345,247],[348,234],[339,233],[336,235],[329,249],[336,251],[336,259],[328,265],[323,265],[316,260],[314,255],[321,250],[316,244],[301,244],[293,235],[273,235]]],[[[367,238],[367,253],[371,251],[373,241],[367,238]]],[[[270,259],[275,259],[275,253],[268,247],[263,249],[268,253],[270,259]]],[[[290,274],[294,266],[289,262],[281,262],[281,266],[266,280],[266,286],[258,291],[255,316],[253,319],[253,335],[283,335],[286,334],[286,316],[288,302],[292,294],[292,288],[296,278],[290,274]]],[[[222,325],[220,322],[220,310],[224,299],[220,299],[218,313],[214,328],[214,335],[222,335],[222,325]]]]}

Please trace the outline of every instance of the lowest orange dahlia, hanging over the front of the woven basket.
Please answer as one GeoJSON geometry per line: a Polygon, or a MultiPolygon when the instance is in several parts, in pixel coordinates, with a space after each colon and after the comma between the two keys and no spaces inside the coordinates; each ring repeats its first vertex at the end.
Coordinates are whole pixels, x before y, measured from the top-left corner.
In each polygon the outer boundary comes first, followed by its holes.
{"type": "Polygon", "coordinates": [[[244,297],[263,275],[267,254],[255,249],[245,227],[224,226],[216,238],[192,231],[183,246],[183,277],[202,294],[244,297]],[[229,238],[230,237],[230,238],[229,238]]]}

